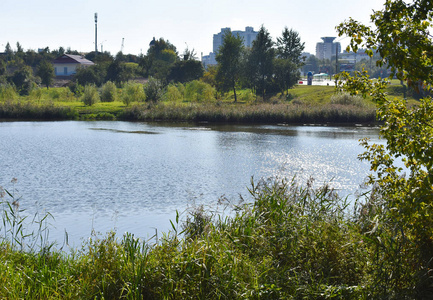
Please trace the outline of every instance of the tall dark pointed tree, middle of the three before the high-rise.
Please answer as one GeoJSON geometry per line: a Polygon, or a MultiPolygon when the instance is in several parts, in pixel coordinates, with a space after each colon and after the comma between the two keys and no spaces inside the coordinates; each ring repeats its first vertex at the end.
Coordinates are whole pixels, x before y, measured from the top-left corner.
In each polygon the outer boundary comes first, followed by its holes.
{"type": "Polygon", "coordinates": [[[249,69],[256,86],[256,93],[261,92],[265,100],[266,88],[272,81],[273,61],[275,58],[274,42],[267,29],[262,25],[253,41],[250,57],[248,60],[249,69]]]}

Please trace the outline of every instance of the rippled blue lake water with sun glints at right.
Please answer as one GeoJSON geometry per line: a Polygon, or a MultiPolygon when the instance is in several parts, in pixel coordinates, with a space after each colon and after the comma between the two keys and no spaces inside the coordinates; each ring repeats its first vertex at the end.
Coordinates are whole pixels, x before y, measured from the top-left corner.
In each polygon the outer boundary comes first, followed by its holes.
{"type": "Polygon", "coordinates": [[[252,176],[312,176],[353,194],[369,172],[357,159],[363,137],[377,141],[377,128],[0,122],[0,185],[27,214],[54,216],[50,240],[66,231],[77,246],[92,230],[149,239],[176,210],[247,198],[252,176]]]}

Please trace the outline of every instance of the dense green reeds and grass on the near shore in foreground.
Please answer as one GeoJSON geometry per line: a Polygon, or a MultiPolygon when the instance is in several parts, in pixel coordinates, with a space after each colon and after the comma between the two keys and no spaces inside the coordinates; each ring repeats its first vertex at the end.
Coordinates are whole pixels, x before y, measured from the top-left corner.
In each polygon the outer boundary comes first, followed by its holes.
{"type": "Polygon", "coordinates": [[[327,186],[313,189],[311,182],[306,187],[295,181],[253,183],[249,191],[252,201],[234,206],[231,217],[193,210],[183,223],[178,218],[172,222],[173,231],[157,244],[128,233],[121,238],[109,233],[65,254],[46,247],[22,251],[5,234],[0,244],[0,298],[423,299],[424,295],[428,299],[431,295],[417,285],[420,266],[412,259],[413,247],[386,244],[393,228],[374,229],[378,220],[373,217],[380,208],[374,198],[348,210],[345,199],[327,186]],[[389,256],[396,246],[404,257],[389,256]],[[398,266],[392,263],[395,259],[398,266]]]}

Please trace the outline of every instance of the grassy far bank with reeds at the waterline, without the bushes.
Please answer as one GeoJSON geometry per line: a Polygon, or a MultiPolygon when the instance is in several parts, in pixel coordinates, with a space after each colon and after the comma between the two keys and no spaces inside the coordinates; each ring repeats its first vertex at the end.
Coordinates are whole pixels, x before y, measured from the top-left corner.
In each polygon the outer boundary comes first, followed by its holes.
{"type": "MultiPolygon", "coordinates": [[[[0,97],[0,119],[11,120],[131,120],[207,121],[239,123],[374,123],[375,106],[369,100],[335,95],[329,86],[298,86],[288,95],[267,101],[251,91],[239,92],[238,103],[230,93],[215,98],[173,98],[173,87],[157,103],[121,101],[122,89],[111,102],[84,105],[67,88],[51,88],[30,96],[0,97]],[[197,100],[199,99],[199,100],[197,100]]],[[[177,92],[176,92],[177,93],[177,92]]],[[[178,96],[180,97],[180,96],[178,96]]]]}

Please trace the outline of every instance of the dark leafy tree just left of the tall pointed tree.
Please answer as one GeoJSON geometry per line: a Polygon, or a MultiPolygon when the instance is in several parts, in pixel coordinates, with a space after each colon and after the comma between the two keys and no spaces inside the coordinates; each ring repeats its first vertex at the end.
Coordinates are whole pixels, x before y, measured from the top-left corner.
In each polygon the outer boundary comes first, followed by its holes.
{"type": "Polygon", "coordinates": [[[232,89],[235,102],[237,102],[236,85],[242,72],[243,49],[244,43],[242,38],[228,31],[224,34],[223,43],[216,55],[218,65],[215,79],[217,85],[222,91],[232,89]]]}

